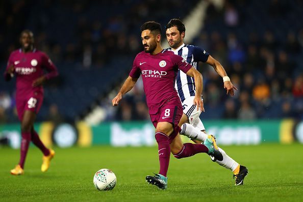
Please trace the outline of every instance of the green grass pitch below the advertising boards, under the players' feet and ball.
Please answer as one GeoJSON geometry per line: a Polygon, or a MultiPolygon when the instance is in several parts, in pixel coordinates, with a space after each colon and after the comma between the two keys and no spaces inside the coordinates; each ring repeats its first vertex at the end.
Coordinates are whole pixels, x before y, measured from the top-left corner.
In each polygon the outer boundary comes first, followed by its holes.
{"type": "Polygon", "coordinates": [[[232,172],[206,154],[175,159],[171,156],[168,189],[145,182],[159,171],[156,147],[55,148],[49,170],[40,171],[40,151],[31,147],[25,175],[11,176],[19,150],[0,148],[0,201],[302,201],[303,146],[263,144],[223,146],[247,166],[244,186],[234,186],[232,172]],[[98,191],[93,175],[100,168],[117,176],[111,191],[98,191]]]}

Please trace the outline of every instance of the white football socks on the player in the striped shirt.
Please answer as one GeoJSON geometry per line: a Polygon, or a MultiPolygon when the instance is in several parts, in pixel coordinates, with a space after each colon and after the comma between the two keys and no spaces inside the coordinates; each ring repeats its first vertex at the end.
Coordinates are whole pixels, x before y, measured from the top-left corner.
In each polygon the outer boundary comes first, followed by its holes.
{"type": "MultiPolygon", "coordinates": [[[[181,126],[180,134],[185,135],[190,139],[199,140],[201,142],[204,142],[208,138],[208,134],[200,131],[199,129],[193,127],[188,123],[185,123],[181,126]]],[[[219,151],[223,156],[223,160],[222,161],[216,160],[216,163],[227,169],[234,171],[238,167],[239,163],[237,163],[234,159],[232,159],[229,155],[227,155],[225,151],[222,150],[221,148],[219,148],[219,151]]]]}

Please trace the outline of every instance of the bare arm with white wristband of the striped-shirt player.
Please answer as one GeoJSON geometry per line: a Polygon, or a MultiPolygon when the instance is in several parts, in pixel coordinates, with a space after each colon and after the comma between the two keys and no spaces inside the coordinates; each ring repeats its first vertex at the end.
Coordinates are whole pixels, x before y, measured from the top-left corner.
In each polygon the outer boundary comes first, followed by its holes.
{"type": "Polygon", "coordinates": [[[206,63],[213,66],[214,70],[223,78],[224,89],[226,89],[226,95],[230,94],[231,96],[234,96],[235,95],[234,90],[238,90],[238,89],[233,85],[233,83],[231,82],[230,78],[227,76],[222,65],[217,60],[215,60],[211,55],[209,55],[206,63]]]}

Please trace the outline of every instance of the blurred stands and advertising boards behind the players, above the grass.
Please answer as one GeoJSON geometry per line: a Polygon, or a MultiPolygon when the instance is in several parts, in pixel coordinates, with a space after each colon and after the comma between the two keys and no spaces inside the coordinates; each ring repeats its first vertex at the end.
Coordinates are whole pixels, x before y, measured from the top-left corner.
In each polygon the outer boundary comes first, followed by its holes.
{"type": "MultiPolygon", "coordinates": [[[[165,33],[171,18],[184,21],[186,44],[207,50],[238,88],[236,96],[226,96],[222,78],[212,67],[199,64],[206,109],[200,118],[219,143],[303,142],[301,1],[45,0],[0,4],[2,72],[10,52],[19,48],[20,32],[29,28],[36,47],[49,55],[60,73],[45,84],[37,116],[36,128],[47,145],[54,143],[54,129],[59,134],[68,131],[69,135],[61,137],[70,141],[69,145],[63,142],[65,147],[74,143],[154,145],[141,81],[118,107],[111,106],[111,99],[136,54],[143,50],[141,24],[158,21],[165,33]]],[[[164,34],[162,44],[168,47],[164,34]]],[[[14,141],[19,133],[15,80],[0,79],[0,124],[1,136],[11,139],[4,143],[14,142],[11,146],[18,147],[14,141]]]]}

